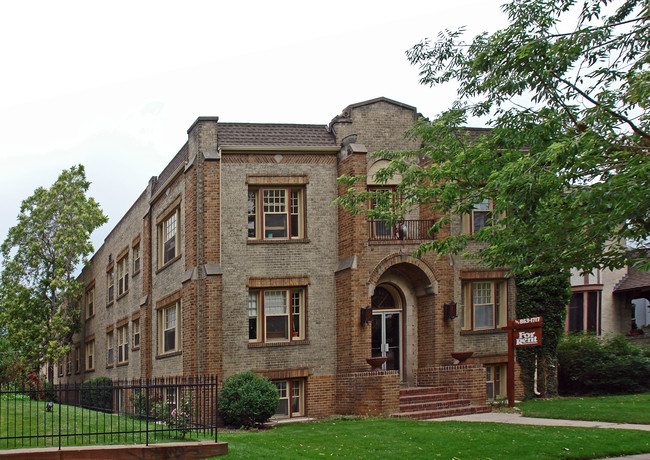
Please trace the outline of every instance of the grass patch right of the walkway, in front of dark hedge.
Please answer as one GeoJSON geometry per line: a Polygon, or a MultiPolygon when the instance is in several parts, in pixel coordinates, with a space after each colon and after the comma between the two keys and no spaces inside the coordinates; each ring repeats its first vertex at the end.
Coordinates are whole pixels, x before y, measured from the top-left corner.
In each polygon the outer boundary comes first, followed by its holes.
{"type": "Polygon", "coordinates": [[[534,399],[518,404],[526,417],[650,425],[650,393],[534,399]]]}

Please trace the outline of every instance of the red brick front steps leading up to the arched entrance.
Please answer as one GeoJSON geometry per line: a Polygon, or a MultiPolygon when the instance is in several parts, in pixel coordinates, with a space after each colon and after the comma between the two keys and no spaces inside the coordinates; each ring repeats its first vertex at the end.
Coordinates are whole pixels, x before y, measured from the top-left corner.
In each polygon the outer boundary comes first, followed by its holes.
{"type": "Polygon", "coordinates": [[[490,412],[490,406],[472,406],[469,399],[460,399],[458,393],[446,387],[402,388],[399,393],[399,412],[392,417],[416,420],[451,417],[454,415],[490,412]]]}

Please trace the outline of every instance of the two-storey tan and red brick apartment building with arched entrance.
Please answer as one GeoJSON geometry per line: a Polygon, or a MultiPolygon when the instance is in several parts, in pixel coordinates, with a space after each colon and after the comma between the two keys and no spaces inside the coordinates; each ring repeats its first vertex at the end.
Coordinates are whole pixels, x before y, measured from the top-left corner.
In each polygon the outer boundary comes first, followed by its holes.
{"type": "MultiPolygon", "coordinates": [[[[429,209],[392,228],[332,205],[340,175],[380,187],[372,152],[418,148],[403,133],[419,116],[378,98],[329,125],[198,118],[82,271],[83,327],[59,380],[252,369],[277,384],[285,417],[397,413],[400,390],[403,402],[423,386],[476,406],[505,394],[506,271],[413,258],[444,236],[429,236],[440,218],[429,209]],[[469,364],[454,364],[451,352],[468,350],[469,364]],[[370,371],[378,355],[385,370],[370,371]]],[[[442,233],[475,230],[489,206],[442,233]]]]}

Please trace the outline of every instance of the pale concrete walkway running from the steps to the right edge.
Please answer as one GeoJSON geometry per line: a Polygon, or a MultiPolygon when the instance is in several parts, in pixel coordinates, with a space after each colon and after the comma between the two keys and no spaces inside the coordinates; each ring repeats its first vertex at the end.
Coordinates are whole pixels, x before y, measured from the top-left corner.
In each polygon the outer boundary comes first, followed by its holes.
{"type": "Polygon", "coordinates": [[[590,422],[586,420],[560,420],[550,418],[522,417],[519,414],[510,414],[505,412],[486,412],[484,414],[458,415],[455,417],[430,419],[432,422],[447,422],[451,420],[456,420],[459,422],[494,422],[514,423],[518,425],[578,426],[586,428],[616,428],[622,430],[650,431],[650,425],[641,425],[635,423],[590,422]]]}

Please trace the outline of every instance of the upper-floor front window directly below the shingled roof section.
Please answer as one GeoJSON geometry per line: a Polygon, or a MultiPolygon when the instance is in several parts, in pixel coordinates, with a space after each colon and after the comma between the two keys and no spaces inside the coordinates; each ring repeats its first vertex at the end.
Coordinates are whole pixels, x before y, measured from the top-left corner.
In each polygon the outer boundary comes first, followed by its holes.
{"type": "Polygon", "coordinates": [[[302,239],[305,237],[303,187],[250,188],[249,239],[302,239]]]}

